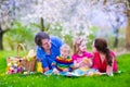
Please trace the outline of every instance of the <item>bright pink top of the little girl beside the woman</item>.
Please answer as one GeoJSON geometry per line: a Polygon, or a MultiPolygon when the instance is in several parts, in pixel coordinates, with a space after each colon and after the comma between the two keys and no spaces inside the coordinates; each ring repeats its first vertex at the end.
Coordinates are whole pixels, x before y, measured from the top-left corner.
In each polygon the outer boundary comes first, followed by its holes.
{"type": "Polygon", "coordinates": [[[78,55],[78,54],[75,53],[75,54],[73,54],[72,58],[73,58],[74,61],[76,61],[77,63],[79,63],[79,62],[82,61],[83,58],[88,58],[88,59],[92,58],[92,54],[89,53],[89,52],[83,52],[82,55],[78,55]]]}

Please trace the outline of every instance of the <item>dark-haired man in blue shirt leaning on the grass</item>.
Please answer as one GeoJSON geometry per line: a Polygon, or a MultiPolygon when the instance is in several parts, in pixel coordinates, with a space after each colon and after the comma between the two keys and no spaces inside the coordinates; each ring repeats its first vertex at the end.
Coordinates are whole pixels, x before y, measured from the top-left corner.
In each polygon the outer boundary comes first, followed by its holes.
{"type": "Polygon", "coordinates": [[[60,54],[60,47],[63,41],[58,37],[50,37],[44,32],[38,33],[35,37],[37,44],[37,60],[42,62],[43,72],[51,70],[52,62],[60,54]]]}

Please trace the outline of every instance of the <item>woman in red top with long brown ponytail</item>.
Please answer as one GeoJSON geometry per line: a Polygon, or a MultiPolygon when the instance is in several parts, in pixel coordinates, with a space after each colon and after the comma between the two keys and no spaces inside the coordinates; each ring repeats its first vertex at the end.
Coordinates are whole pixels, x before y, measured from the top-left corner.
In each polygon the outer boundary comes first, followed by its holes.
{"type": "Polygon", "coordinates": [[[105,39],[96,38],[93,41],[92,50],[94,52],[93,69],[107,75],[113,75],[113,72],[117,72],[115,54],[108,49],[105,39]]]}

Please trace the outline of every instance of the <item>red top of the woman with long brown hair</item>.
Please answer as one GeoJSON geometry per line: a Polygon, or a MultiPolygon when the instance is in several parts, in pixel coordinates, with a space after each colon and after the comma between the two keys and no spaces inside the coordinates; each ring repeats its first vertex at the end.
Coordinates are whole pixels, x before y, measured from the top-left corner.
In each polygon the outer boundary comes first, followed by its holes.
{"type": "MultiPolygon", "coordinates": [[[[116,62],[116,59],[115,59],[115,53],[110,51],[110,54],[112,54],[112,57],[114,59],[113,71],[117,72],[117,62],[116,62]]],[[[106,60],[101,62],[100,53],[95,52],[94,53],[94,59],[93,59],[93,69],[96,69],[96,70],[99,70],[102,73],[105,73],[106,72],[106,67],[107,67],[106,60]]]]}

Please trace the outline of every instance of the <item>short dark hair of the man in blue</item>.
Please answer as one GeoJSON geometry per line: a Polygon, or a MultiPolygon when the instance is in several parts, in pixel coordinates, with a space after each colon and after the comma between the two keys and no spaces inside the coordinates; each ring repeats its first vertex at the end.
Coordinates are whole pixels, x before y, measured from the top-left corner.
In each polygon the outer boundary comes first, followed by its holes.
{"type": "Polygon", "coordinates": [[[41,47],[41,40],[42,39],[50,39],[50,36],[47,34],[47,33],[44,33],[44,32],[40,32],[40,33],[38,33],[36,36],[35,36],[35,42],[36,42],[36,45],[38,45],[38,46],[40,46],[41,47]]]}

